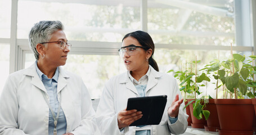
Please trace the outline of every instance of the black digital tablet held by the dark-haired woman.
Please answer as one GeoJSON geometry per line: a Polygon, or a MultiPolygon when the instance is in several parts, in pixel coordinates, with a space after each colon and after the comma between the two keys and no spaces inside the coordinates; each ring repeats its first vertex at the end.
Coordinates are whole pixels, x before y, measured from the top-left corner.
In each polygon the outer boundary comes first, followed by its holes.
{"type": "Polygon", "coordinates": [[[128,98],[127,110],[136,109],[143,114],[141,119],[129,126],[158,125],[161,122],[166,102],[167,95],[128,98]]]}

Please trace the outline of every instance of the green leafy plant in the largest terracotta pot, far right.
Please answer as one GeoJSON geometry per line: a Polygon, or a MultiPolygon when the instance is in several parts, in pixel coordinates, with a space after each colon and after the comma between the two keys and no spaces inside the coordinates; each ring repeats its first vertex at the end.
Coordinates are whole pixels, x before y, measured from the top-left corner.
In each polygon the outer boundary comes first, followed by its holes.
{"type": "Polygon", "coordinates": [[[234,54],[231,59],[221,62],[225,72],[219,78],[231,93],[231,99],[215,99],[217,105],[219,134],[253,134],[253,106],[251,99],[243,99],[248,93],[248,80],[252,66],[244,62],[245,56],[234,54]],[[234,98],[234,99],[232,99],[234,98]]]}

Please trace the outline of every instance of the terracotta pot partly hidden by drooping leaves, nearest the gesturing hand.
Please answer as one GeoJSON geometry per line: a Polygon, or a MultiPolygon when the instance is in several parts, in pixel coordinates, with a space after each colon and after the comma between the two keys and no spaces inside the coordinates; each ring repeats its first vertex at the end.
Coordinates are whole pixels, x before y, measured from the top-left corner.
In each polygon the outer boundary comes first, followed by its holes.
{"type": "MultiPolygon", "coordinates": [[[[187,100],[188,102],[190,102],[192,99],[187,100]]],[[[192,119],[192,123],[191,123],[191,127],[192,128],[204,128],[204,125],[207,125],[206,120],[203,116],[203,119],[197,119],[195,118],[195,116],[193,115],[193,103],[195,103],[195,101],[193,101],[189,106],[190,106],[190,113],[191,113],[191,119],[192,119]]]]}

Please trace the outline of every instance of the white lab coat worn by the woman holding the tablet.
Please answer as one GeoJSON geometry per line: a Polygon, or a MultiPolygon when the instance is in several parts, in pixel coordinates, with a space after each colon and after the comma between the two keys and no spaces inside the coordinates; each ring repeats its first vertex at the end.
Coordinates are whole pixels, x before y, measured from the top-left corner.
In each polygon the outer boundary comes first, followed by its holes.
{"type": "MultiPolygon", "coordinates": [[[[177,81],[168,74],[159,73],[151,68],[149,80],[146,88],[146,96],[167,95],[167,104],[165,106],[163,118],[159,125],[150,125],[145,129],[151,129],[151,134],[165,135],[165,134],[181,134],[186,131],[187,118],[184,103],[179,107],[178,120],[171,124],[168,118],[167,109],[172,104],[175,96],[178,94],[181,99],[177,81]]],[[[102,135],[114,134],[135,134],[138,128],[125,127],[122,132],[118,128],[117,114],[124,110],[127,106],[128,98],[138,97],[137,89],[134,87],[131,79],[128,77],[128,71],[111,78],[106,84],[100,103],[98,104],[96,112],[96,122],[102,135]]]]}

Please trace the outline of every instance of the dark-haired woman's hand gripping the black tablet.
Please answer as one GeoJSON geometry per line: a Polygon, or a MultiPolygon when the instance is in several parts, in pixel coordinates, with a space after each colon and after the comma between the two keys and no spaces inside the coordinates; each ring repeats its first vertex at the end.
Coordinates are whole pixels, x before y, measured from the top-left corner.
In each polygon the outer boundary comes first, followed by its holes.
{"type": "Polygon", "coordinates": [[[120,111],[118,113],[118,128],[127,127],[132,124],[134,121],[142,117],[142,112],[137,110],[126,110],[120,111]]]}

